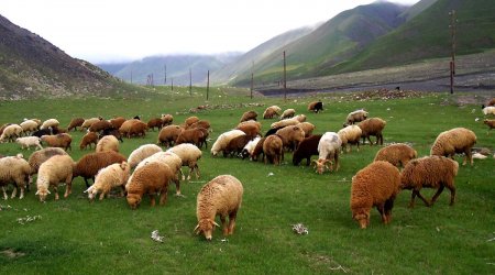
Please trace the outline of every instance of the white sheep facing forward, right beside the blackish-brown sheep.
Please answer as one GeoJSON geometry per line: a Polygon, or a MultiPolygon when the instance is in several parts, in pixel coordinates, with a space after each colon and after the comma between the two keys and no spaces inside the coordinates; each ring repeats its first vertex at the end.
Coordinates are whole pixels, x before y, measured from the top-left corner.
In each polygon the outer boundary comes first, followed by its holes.
{"type": "Polygon", "coordinates": [[[333,161],[336,162],[336,172],[339,170],[339,152],[342,141],[336,132],[326,132],[318,143],[318,161],[312,161],[316,172],[323,174],[324,169],[333,170],[333,161]],[[330,163],[330,167],[328,166],[330,163]]]}

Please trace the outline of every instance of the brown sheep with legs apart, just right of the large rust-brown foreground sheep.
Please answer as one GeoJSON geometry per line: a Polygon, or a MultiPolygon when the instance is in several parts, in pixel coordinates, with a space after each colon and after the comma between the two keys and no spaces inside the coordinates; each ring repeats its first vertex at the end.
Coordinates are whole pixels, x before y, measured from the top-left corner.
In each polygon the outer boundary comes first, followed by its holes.
{"type": "Polygon", "coordinates": [[[455,202],[454,177],[458,175],[459,163],[444,156],[425,156],[406,164],[402,173],[403,189],[413,189],[409,208],[415,206],[418,196],[427,207],[433,206],[443,188],[450,190],[450,206],[455,202]],[[437,189],[430,201],[421,196],[419,190],[424,187],[437,189]]]}

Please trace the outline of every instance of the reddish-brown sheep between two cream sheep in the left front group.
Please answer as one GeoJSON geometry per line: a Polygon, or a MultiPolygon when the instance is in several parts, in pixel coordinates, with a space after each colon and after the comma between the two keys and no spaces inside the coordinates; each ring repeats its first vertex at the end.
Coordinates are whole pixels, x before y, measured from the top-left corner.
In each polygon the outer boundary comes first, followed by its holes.
{"type": "Polygon", "coordinates": [[[86,187],[89,187],[88,178],[95,183],[95,176],[98,170],[114,163],[127,162],[128,160],[122,154],[113,151],[89,153],[84,155],[76,163],[74,168],[74,177],[81,176],[85,179],[86,187]]]}

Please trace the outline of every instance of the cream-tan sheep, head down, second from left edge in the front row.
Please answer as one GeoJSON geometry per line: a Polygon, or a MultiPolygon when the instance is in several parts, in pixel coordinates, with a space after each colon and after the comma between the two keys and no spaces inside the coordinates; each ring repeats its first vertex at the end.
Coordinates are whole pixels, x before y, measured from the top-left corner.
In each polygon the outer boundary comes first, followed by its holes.
{"type": "Polygon", "coordinates": [[[58,200],[58,184],[64,182],[66,184],[64,198],[67,198],[72,193],[73,173],[75,163],[69,155],[55,155],[48,158],[40,166],[36,179],[36,194],[40,196],[40,201],[45,201],[48,196],[48,188],[52,186],[55,191],[55,200],[58,200]]]}

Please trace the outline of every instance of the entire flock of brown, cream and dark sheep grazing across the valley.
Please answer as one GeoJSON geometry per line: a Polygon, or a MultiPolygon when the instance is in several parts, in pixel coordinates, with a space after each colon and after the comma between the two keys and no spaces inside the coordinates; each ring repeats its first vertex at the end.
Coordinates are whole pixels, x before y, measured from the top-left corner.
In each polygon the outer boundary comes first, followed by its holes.
{"type": "MultiPolygon", "coordinates": [[[[485,114],[495,114],[495,100],[483,109],[485,114]],[[493,109],[493,111],[491,111],[493,109]]],[[[320,101],[311,102],[308,110],[315,113],[323,110],[320,101]]],[[[376,136],[376,144],[383,145],[383,130],[386,121],[380,118],[369,118],[365,110],[356,110],[345,119],[343,129],[338,132],[312,134],[315,125],[307,122],[305,114],[296,116],[294,109],[282,109],[272,106],[266,108],[263,119],[278,118],[271,124],[271,129],[261,133],[261,123],[256,121],[257,113],[248,111],[243,113],[240,123],[230,131],[221,133],[211,145],[211,155],[220,153],[224,157],[239,156],[258,161],[260,155],[265,164],[279,165],[285,152],[293,152],[293,164],[298,165],[307,160],[306,165],[312,164],[316,172],[339,169],[339,154],[349,152],[350,146],[359,145],[362,139],[373,144],[370,136],[376,136]],[[312,155],[318,158],[310,162],[312,155]]],[[[43,123],[40,120],[25,120],[18,124],[6,124],[0,131],[0,141],[16,141],[22,148],[34,146],[35,151],[29,160],[22,154],[16,156],[0,156],[0,186],[3,198],[8,199],[6,187],[13,185],[11,198],[20,189],[20,198],[24,189],[30,188],[33,175],[36,177],[36,193],[41,201],[45,201],[54,191],[58,199],[57,187],[65,183],[64,197],[72,193],[72,182],[75,177],[85,179],[89,200],[98,194],[99,199],[108,196],[110,190],[119,188],[121,196],[125,196],[131,209],[141,204],[143,196],[148,195],[151,205],[155,205],[155,195],[160,195],[160,205],[166,204],[168,185],[175,184],[176,196],[182,196],[180,179],[185,180],[182,167],[189,167],[187,179],[196,173],[199,178],[198,161],[201,158],[201,148],[208,148],[211,125],[208,121],[190,117],[184,124],[175,125],[169,114],[152,119],[144,123],[140,118],[125,120],[116,118],[73,119],[68,128],[59,128],[56,119],[43,123]],[[75,162],[67,153],[72,150],[69,131],[77,128],[87,133],[81,138],[79,148],[86,150],[95,146],[94,153],[85,154],[75,162]],[[148,129],[160,129],[157,144],[144,144],[135,148],[129,157],[119,153],[119,141],[122,136],[143,136],[148,129]],[[26,136],[21,136],[24,133],[26,136]],[[42,143],[47,147],[43,148],[42,143]],[[164,151],[162,146],[168,147],[164,151]],[[94,184],[89,184],[92,179],[94,184]]],[[[493,120],[485,120],[485,124],[493,124],[493,120]]],[[[493,128],[491,125],[491,128],[493,128]]],[[[459,164],[453,155],[463,153],[463,164],[473,165],[472,147],[476,143],[474,132],[464,128],[455,128],[438,135],[431,146],[430,156],[417,158],[416,151],[406,144],[392,144],[382,147],[373,163],[359,170],[352,178],[351,210],[352,217],[361,228],[370,223],[370,212],[376,207],[382,221],[388,223],[392,219],[394,199],[402,189],[411,189],[410,207],[415,198],[419,197],[427,206],[435,204],[442,190],[447,187],[451,191],[450,204],[455,201],[454,177],[459,164]],[[402,167],[402,170],[399,170],[402,167]],[[437,189],[431,200],[419,193],[421,188],[437,189]]],[[[237,212],[242,202],[243,186],[231,175],[221,175],[206,184],[197,197],[198,224],[196,233],[204,233],[211,240],[216,226],[216,216],[220,220],[224,234],[232,234],[235,226],[237,212]],[[227,217],[229,222],[227,223],[227,217]]]]}

